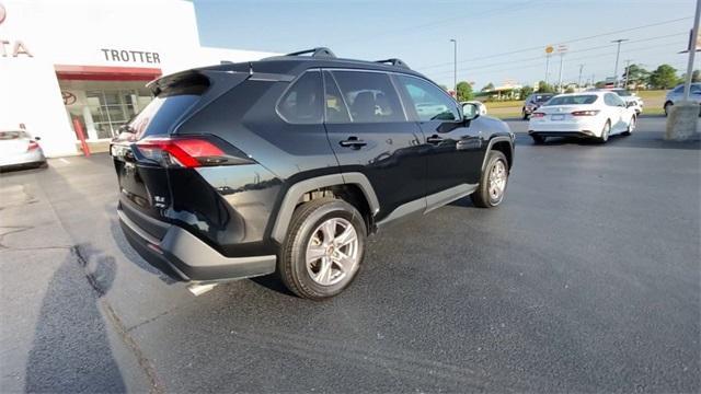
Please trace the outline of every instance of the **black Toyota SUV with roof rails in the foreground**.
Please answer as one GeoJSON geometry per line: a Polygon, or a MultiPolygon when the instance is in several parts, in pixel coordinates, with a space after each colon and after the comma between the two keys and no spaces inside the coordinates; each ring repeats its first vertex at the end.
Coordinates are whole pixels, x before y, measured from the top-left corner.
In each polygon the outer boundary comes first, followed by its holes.
{"type": "Polygon", "coordinates": [[[129,243],[191,290],[277,271],[340,293],[366,236],[464,196],[502,202],[514,135],[401,60],[326,48],[193,69],[111,147],[129,243]]]}

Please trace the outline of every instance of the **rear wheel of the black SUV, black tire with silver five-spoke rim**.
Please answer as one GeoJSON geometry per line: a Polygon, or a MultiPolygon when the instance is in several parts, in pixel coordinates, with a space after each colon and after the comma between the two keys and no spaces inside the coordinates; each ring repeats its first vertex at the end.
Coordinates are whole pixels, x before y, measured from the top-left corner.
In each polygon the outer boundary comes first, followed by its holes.
{"type": "MultiPolygon", "coordinates": [[[[365,252],[365,239],[367,229],[363,216],[350,204],[334,198],[320,198],[299,206],[292,215],[290,227],[277,259],[277,270],[280,280],[295,294],[321,301],[341,293],[357,276],[363,263],[365,252]],[[334,222],[333,237],[322,229],[322,224],[334,222]],[[355,231],[356,242],[344,246],[335,245],[340,235],[345,234],[348,225],[355,231]],[[341,231],[338,231],[341,229],[341,231]],[[330,245],[325,245],[332,242],[330,245]],[[317,245],[314,245],[317,243],[317,245]],[[353,245],[352,245],[353,244],[353,245]],[[318,259],[308,257],[313,250],[322,252],[318,259]],[[353,257],[345,259],[348,265],[346,270],[342,265],[332,260],[333,256],[340,259],[340,254],[353,257]],[[340,253],[338,255],[336,253],[340,253]],[[326,270],[322,271],[326,267],[326,270]],[[322,275],[326,273],[327,275],[322,275]],[[335,276],[334,276],[335,275],[335,276]]],[[[342,240],[343,241],[343,240],[342,240]]]]}

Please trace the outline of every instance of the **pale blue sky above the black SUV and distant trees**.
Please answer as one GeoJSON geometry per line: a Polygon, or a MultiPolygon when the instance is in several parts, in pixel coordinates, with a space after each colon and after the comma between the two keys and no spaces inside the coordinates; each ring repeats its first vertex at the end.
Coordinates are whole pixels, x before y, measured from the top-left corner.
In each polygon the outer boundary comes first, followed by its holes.
{"type": "MultiPolygon", "coordinates": [[[[318,46],[356,59],[401,58],[412,69],[453,85],[481,89],[545,79],[545,47],[564,43],[563,82],[612,77],[625,63],[686,71],[694,0],[194,0],[204,46],[291,53],[318,46]]],[[[549,81],[559,79],[552,56],[549,81]]],[[[698,66],[698,61],[697,61],[698,66]]]]}

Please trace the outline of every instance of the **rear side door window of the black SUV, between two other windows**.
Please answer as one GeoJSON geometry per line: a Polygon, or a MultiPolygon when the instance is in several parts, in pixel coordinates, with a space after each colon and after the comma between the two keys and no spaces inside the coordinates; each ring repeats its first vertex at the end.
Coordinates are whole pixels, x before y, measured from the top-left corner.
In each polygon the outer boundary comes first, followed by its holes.
{"type": "Polygon", "coordinates": [[[333,71],[353,123],[405,121],[390,77],[384,72],[333,71]]]}

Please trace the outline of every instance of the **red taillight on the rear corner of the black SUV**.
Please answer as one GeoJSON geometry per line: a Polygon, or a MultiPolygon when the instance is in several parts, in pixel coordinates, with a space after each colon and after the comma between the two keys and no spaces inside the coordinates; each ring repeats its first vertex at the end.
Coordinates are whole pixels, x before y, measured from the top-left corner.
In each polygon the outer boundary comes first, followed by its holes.
{"type": "MultiPolygon", "coordinates": [[[[248,164],[243,154],[230,154],[207,138],[147,138],[136,149],[148,160],[163,166],[198,167],[206,165],[248,164]]],[[[242,153],[242,152],[237,152],[242,153]]]]}

